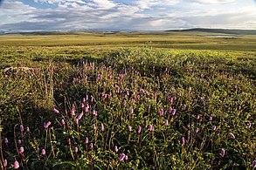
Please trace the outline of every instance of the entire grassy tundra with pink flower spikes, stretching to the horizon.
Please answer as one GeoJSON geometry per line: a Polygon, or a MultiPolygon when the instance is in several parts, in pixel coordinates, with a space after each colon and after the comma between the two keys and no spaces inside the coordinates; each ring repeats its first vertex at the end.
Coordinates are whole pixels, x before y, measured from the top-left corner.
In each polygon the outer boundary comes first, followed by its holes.
{"type": "Polygon", "coordinates": [[[2,169],[256,168],[256,36],[0,36],[2,169]]]}

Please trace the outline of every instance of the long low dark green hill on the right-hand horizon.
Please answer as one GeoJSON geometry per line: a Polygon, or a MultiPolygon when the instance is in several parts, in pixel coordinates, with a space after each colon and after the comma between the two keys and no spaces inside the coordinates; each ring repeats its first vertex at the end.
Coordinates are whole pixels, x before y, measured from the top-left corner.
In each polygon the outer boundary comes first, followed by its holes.
{"type": "Polygon", "coordinates": [[[204,29],[194,28],[188,30],[170,30],[179,32],[209,32],[209,33],[222,33],[222,34],[234,34],[234,35],[256,35],[256,30],[227,30],[227,29],[204,29]]]}

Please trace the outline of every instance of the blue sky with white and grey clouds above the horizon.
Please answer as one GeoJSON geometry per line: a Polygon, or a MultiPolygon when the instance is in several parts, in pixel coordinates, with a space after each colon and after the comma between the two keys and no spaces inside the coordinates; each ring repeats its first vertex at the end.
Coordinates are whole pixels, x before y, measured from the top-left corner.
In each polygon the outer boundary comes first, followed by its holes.
{"type": "Polygon", "coordinates": [[[0,31],[256,29],[256,0],[0,0],[0,31]]]}

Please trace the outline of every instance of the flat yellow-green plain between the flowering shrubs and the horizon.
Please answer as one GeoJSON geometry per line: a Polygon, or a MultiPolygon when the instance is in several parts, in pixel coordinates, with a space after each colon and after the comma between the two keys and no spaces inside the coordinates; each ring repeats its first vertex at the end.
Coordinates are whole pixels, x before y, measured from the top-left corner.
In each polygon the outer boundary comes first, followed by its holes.
{"type": "MultiPolygon", "coordinates": [[[[67,34],[67,33],[66,33],[67,34]]],[[[73,32],[71,35],[0,36],[7,46],[83,46],[100,48],[138,47],[187,50],[255,51],[256,36],[226,35],[205,32],[73,32]],[[229,36],[229,37],[214,37],[229,36]]]]}

